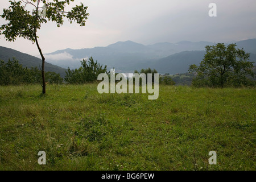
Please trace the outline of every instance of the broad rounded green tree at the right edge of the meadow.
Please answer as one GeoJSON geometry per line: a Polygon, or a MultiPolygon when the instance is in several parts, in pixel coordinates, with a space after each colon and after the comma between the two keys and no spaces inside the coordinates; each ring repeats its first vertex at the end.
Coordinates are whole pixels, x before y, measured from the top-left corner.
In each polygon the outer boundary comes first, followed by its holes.
{"type": "Polygon", "coordinates": [[[192,85],[195,86],[242,86],[252,84],[247,76],[254,77],[253,63],[247,61],[250,53],[237,49],[236,44],[218,43],[216,46],[206,46],[204,60],[200,66],[190,65],[189,72],[196,73],[192,85]]]}

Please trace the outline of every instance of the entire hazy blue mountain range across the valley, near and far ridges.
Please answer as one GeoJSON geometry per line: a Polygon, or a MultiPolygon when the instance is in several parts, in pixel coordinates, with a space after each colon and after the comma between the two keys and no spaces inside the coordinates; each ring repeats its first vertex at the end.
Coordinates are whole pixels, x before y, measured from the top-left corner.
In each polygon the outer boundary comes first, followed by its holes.
{"type": "MultiPolygon", "coordinates": [[[[199,64],[203,60],[205,46],[213,44],[182,41],[144,46],[126,41],[106,47],[59,50],[46,54],[46,60],[63,68],[75,69],[81,66],[82,59],[92,56],[100,64],[108,65],[108,69],[115,68],[117,72],[133,72],[135,69],[151,67],[160,73],[184,73],[188,65],[199,64]]],[[[256,53],[256,39],[242,40],[236,44],[246,52],[256,53]]]]}

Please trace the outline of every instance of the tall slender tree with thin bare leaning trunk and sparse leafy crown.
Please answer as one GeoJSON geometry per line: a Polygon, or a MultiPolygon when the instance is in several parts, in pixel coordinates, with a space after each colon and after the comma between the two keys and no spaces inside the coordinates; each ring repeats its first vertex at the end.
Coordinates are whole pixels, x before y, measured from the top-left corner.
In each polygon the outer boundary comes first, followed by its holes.
{"type": "Polygon", "coordinates": [[[72,7],[71,11],[65,11],[65,6],[75,0],[53,0],[48,2],[46,0],[22,0],[10,1],[9,9],[3,9],[1,17],[7,20],[7,24],[0,27],[0,35],[5,35],[7,41],[15,41],[17,37],[22,37],[36,43],[40,56],[42,57],[42,87],[43,94],[46,93],[46,78],[44,75],[44,55],[42,49],[39,47],[38,30],[40,30],[42,23],[48,21],[56,22],[57,27],[63,24],[64,18],[67,18],[70,23],[75,21],[80,26],[85,26],[88,9],[82,3],[80,6],[72,7]],[[43,11],[40,3],[44,3],[43,11]],[[31,6],[31,7],[28,7],[31,6]]]}

